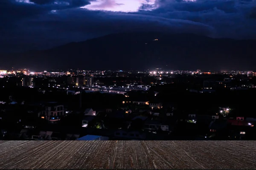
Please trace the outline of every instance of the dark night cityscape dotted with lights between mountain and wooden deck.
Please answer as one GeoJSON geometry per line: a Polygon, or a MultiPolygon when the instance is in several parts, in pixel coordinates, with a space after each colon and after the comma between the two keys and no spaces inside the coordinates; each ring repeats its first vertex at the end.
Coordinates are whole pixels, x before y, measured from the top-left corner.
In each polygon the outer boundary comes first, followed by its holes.
{"type": "Polygon", "coordinates": [[[0,71],[3,140],[256,139],[253,71],[0,71]]]}

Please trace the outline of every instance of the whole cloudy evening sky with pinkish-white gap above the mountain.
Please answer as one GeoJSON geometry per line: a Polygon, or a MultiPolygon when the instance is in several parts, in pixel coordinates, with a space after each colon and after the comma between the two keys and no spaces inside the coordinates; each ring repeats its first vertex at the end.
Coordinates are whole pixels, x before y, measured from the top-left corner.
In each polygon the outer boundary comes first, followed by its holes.
{"type": "Polygon", "coordinates": [[[0,0],[0,52],[125,31],[256,39],[256,0],[0,0]]]}

